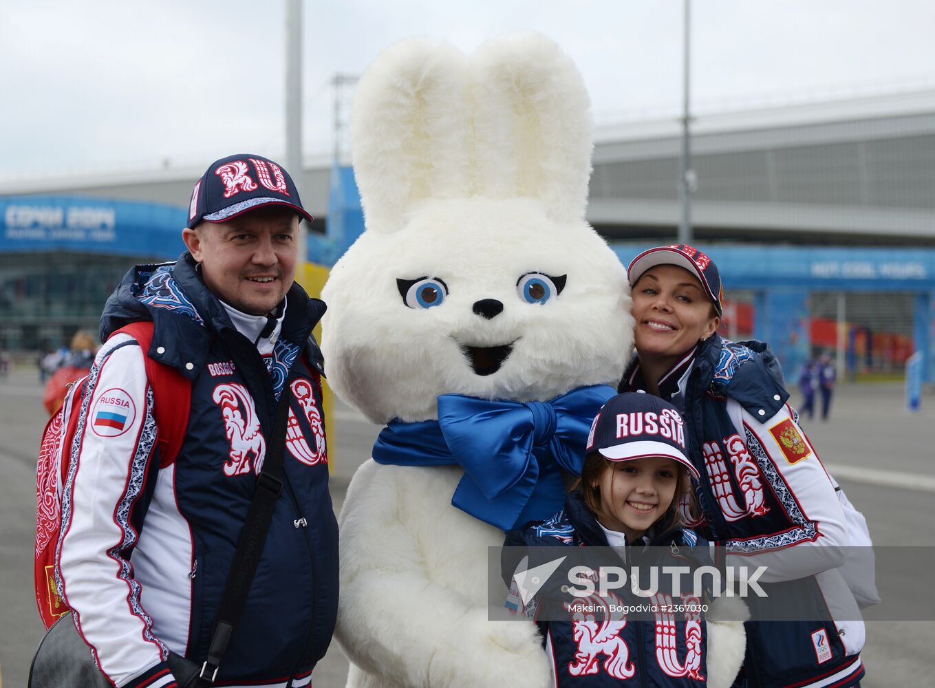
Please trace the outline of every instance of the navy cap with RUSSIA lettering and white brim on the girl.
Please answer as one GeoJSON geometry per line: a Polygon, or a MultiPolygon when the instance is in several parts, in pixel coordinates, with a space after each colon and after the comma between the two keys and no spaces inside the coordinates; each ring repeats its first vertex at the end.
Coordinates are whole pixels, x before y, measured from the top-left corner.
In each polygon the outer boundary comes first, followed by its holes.
{"type": "Polygon", "coordinates": [[[653,394],[626,392],[611,397],[591,423],[585,451],[611,461],[665,456],[700,477],[685,452],[679,409],[653,394]]]}

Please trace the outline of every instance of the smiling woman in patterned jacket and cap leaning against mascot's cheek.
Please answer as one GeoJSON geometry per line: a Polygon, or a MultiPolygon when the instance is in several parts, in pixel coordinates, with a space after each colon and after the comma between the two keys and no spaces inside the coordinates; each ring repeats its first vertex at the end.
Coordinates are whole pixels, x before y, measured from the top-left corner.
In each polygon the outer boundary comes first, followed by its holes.
{"type": "MultiPolygon", "coordinates": [[[[772,351],[716,334],[723,295],[717,266],[690,246],[663,246],[640,253],[628,277],[637,355],[620,391],[655,394],[683,411],[701,475],[702,529],[723,546],[727,564],[767,566],[764,583],[802,579],[818,600],[831,591],[840,597],[843,585],[843,616],[859,619],[837,568],[841,550],[816,549],[847,544],[835,486],[786,404],[772,351]]],[[[756,617],[758,601],[747,602],[756,617]]],[[[837,599],[832,606],[840,609],[837,599]]],[[[857,686],[864,638],[862,621],[748,623],[737,685],[857,686]]]]}

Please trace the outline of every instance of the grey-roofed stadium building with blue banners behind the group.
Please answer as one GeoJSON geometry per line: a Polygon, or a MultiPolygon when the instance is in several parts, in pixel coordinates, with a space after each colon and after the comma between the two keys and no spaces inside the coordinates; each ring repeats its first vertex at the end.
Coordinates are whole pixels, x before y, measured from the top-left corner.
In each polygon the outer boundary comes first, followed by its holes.
{"type": "MultiPolygon", "coordinates": [[[[597,127],[587,217],[625,263],[674,241],[681,147],[674,118],[597,127]]],[[[935,91],[699,115],[692,166],[727,336],[770,341],[792,379],[818,350],[854,374],[901,373],[919,351],[935,381],[935,91]]],[[[0,348],[96,329],[127,265],[183,250],[202,171],[0,185],[0,348]]],[[[295,180],[309,260],[333,265],[362,229],[352,172],[309,159],[295,180]]]]}

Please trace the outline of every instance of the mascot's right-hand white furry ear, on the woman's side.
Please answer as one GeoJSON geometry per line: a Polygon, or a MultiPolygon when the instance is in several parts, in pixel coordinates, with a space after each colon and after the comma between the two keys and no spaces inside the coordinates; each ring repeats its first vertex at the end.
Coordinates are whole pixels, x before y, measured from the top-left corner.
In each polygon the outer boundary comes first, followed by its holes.
{"type": "Polygon", "coordinates": [[[590,98],[549,38],[485,43],[471,61],[477,192],[539,198],[556,220],[582,219],[591,174],[590,98]]]}

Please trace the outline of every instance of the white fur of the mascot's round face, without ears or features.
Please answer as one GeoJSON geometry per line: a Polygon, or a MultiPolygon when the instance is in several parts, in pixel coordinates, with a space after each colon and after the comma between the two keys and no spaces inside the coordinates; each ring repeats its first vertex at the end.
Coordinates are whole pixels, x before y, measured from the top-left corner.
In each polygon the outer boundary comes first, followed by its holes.
{"type": "Polygon", "coordinates": [[[631,324],[626,277],[583,221],[559,225],[535,201],[482,197],[424,201],[393,235],[361,236],[324,290],[328,380],[370,420],[436,418],[439,394],[544,400],[584,385],[616,385],[631,324]],[[538,271],[567,275],[562,294],[528,304],[516,282],[538,271]],[[396,279],[442,279],[436,308],[407,308],[396,279]],[[485,320],[472,305],[504,305],[485,320]],[[478,376],[459,344],[515,341],[493,375],[478,376]]]}

